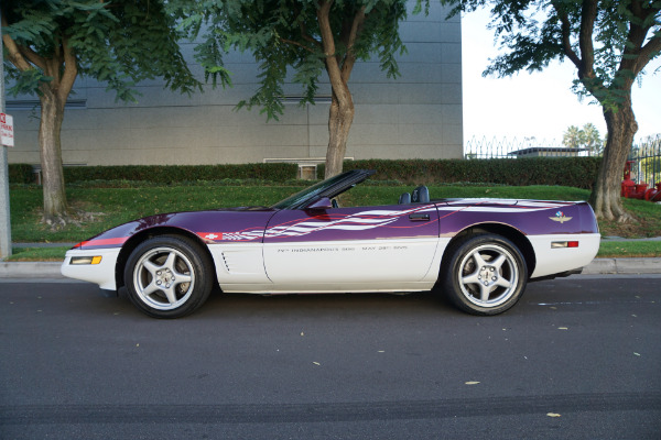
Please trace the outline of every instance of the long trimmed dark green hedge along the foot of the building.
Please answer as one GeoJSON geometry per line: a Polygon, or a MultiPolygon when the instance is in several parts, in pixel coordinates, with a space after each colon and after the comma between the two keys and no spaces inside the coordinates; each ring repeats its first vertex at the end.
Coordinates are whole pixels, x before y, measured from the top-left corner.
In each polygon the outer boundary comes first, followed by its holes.
{"type": "MultiPolygon", "coordinates": [[[[347,161],[344,169],[376,169],[373,180],[394,180],[407,185],[488,183],[592,189],[600,162],[600,157],[364,160],[347,161]]],[[[296,177],[297,169],[296,164],[73,166],[64,168],[64,179],[66,183],[128,180],[176,184],[223,179],[285,183],[296,177]]],[[[318,166],[317,176],[324,176],[324,165],[318,166]]],[[[9,182],[34,183],[32,166],[9,165],[9,182]]]]}

